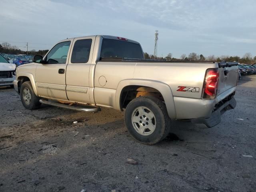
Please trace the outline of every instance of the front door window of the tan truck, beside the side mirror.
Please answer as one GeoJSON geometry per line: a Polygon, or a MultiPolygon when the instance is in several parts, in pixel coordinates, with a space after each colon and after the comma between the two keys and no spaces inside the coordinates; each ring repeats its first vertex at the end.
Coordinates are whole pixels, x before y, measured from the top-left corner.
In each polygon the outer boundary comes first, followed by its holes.
{"type": "Polygon", "coordinates": [[[68,57],[68,49],[70,41],[56,44],[47,55],[46,62],[48,64],[65,64],[68,57]]]}

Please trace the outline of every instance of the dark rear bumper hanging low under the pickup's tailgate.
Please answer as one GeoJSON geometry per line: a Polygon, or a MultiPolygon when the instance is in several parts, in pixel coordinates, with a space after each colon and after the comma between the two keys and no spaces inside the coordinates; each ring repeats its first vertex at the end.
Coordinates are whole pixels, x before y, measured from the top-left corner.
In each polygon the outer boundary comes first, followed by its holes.
{"type": "Polygon", "coordinates": [[[236,107],[236,100],[232,97],[230,100],[224,102],[218,109],[212,112],[209,118],[197,118],[191,119],[192,123],[202,123],[207,127],[213,127],[220,123],[221,115],[224,114],[227,110],[234,109],[236,107]]]}

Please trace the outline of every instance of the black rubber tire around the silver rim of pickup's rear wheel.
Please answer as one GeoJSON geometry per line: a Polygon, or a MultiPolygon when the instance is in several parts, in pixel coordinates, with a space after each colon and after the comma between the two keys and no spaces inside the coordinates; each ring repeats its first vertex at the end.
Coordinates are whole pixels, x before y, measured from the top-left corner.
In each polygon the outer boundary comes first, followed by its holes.
{"type": "MultiPolygon", "coordinates": [[[[144,109],[144,111],[145,110],[148,111],[147,109],[144,109]]],[[[145,118],[145,116],[144,116],[144,118],[145,118]]],[[[148,118],[147,118],[147,120],[148,120],[148,118]]],[[[140,121],[140,123],[141,123],[141,121],[140,121]]],[[[126,107],[125,124],[126,124],[126,127],[128,128],[128,131],[130,132],[130,134],[136,140],[138,140],[139,142],[141,142],[143,144],[153,145],[153,144],[160,142],[168,135],[168,133],[170,132],[170,127],[171,127],[171,119],[168,116],[168,112],[166,110],[166,106],[165,106],[164,102],[162,102],[161,100],[154,98],[152,96],[141,96],[141,97],[133,99],[126,107]],[[152,122],[152,123],[153,124],[156,123],[154,125],[155,129],[149,135],[140,134],[138,132],[138,130],[140,130],[140,128],[136,129],[136,127],[138,127],[138,126],[141,127],[142,124],[132,122],[132,116],[138,115],[138,118],[140,118],[140,113],[137,112],[137,109],[140,107],[148,108],[154,114],[154,118],[152,119],[152,120],[154,120],[154,122],[152,122]]],[[[146,125],[143,124],[143,126],[146,126],[146,125]]],[[[144,130],[146,130],[145,127],[143,127],[143,128],[144,128],[144,130]]]]}

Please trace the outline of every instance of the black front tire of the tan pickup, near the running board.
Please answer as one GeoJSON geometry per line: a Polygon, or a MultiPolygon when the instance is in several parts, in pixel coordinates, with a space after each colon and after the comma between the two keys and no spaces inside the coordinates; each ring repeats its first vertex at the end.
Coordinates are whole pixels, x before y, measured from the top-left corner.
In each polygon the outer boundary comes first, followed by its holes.
{"type": "Polygon", "coordinates": [[[21,99],[23,106],[26,109],[30,109],[30,110],[37,109],[41,105],[41,103],[39,102],[40,97],[35,95],[30,81],[26,81],[21,85],[20,99],[21,99]],[[25,94],[24,90],[26,90],[26,92],[28,92],[28,90],[29,90],[30,102],[28,102],[29,100],[26,100],[26,98],[24,98],[24,94],[25,94]]]}

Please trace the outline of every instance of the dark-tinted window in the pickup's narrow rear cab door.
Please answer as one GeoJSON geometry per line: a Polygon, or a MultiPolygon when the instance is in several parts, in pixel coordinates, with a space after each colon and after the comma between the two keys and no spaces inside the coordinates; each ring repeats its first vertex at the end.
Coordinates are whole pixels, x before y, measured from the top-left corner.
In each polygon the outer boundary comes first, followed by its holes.
{"type": "Polygon", "coordinates": [[[87,63],[90,56],[90,50],[92,46],[92,39],[80,39],[76,40],[72,56],[72,63],[87,63]]]}

